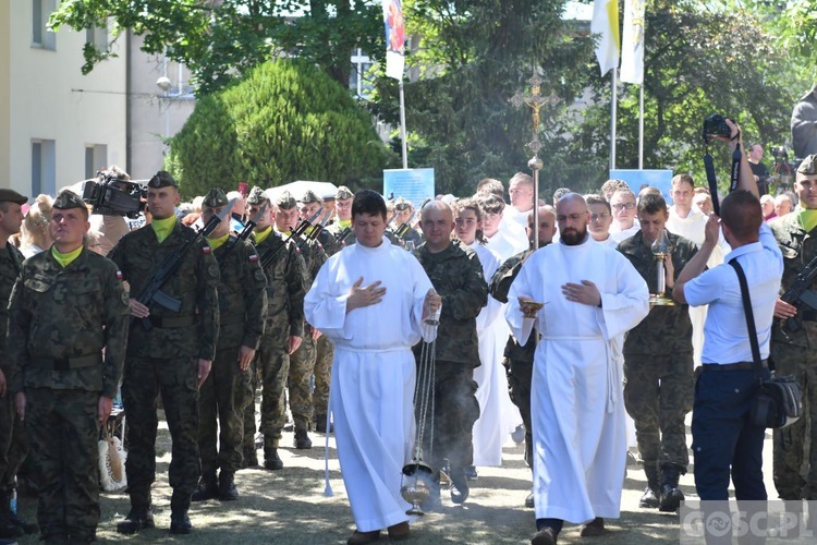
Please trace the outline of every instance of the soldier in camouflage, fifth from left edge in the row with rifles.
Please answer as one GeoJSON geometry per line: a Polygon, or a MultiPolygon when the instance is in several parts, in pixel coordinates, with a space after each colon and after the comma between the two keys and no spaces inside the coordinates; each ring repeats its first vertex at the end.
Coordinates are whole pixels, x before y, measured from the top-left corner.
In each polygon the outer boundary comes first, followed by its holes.
{"type": "Polygon", "coordinates": [[[253,384],[244,409],[244,463],[257,465],[255,453],[255,389],[260,375],[261,433],[264,467],[280,470],[278,456],[281,432],[286,423],[284,386],[290,371],[290,354],[304,337],[304,295],[308,289],[306,265],[294,241],[284,241],[273,229],[275,210],[260,187],[247,197],[248,213],[264,214],[253,233],[253,242],[267,275],[267,319],[261,341],[252,363],[253,384]]]}

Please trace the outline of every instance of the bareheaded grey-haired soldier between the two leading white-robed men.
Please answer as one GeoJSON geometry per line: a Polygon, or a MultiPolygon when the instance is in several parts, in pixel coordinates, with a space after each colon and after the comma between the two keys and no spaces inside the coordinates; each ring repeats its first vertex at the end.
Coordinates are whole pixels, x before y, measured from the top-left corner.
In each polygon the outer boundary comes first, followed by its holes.
{"type": "MultiPolygon", "coordinates": [[[[479,417],[474,382],[474,368],[480,364],[476,316],[488,302],[488,286],[476,253],[450,238],[454,217],[446,203],[428,203],[420,226],[426,242],[415,255],[442,298],[436,344],[434,445],[424,445],[423,451],[437,483],[448,459],[451,500],[462,504],[468,496],[465,467],[473,463],[472,428],[479,417]]],[[[418,363],[422,344],[414,347],[418,363]]],[[[430,436],[426,434],[426,438],[430,436]]],[[[439,486],[431,491],[430,509],[439,502],[439,486]]]]}

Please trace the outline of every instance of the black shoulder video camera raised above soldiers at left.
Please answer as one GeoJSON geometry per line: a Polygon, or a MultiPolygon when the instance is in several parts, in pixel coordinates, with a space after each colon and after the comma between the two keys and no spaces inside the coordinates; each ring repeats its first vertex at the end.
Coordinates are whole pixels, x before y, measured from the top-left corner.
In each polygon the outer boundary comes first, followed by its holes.
{"type": "Polygon", "coordinates": [[[83,201],[93,207],[94,214],[136,219],[145,208],[144,197],[147,197],[144,186],[117,172],[100,170],[96,179],[83,183],[83,201]]]}

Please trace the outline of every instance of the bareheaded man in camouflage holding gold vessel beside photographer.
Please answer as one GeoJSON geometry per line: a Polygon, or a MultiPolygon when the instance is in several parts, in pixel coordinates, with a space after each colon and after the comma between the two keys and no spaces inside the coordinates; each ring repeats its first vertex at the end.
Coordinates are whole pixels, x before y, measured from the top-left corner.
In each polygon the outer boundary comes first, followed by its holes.
{"type": "MultiPolygon", "coordinates": [[[[658,292],[653,242],[669,218],[660,194],[642,194],[638,199],[641,231],[619,244],[621,252],[647,281],[650,293],[658,292]]],[[[694,242],[667,232],[671,261],[666,259],[667,296],[675,278],[697,253],[694,242]]],[[[630,330],[624,341],[624,405],[635,421],[638,453],[647,474],[647,487],[639,507],[675,511],[684,499],[678,487],[686,473],[684,417],[692,410],[693,367],[692,322],[685,304],[654,305],[649,316],[630,330]]]]}

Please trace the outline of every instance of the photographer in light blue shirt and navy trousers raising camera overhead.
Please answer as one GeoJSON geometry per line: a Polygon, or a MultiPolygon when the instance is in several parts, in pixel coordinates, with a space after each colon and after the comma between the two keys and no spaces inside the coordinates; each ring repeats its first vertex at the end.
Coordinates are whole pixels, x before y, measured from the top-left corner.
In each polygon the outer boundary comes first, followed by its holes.
{"type": "MultiPolygon", "coordinates": [[[[727,142],[732,149],[735,191],[720,207],[716,205],[720,218],[709,217],[705,241],[679,276],[672,295],[679,303],[709,305],[692,416],[698,496],[702,500],[728,500],[731,472],[737,499],[765,501],[763,446],[766,431],[748,419],[758,380],[746,334],[742,290],[733,267],[723,264],[709,270],[705,268],[722,228],[723,237],[733,249],[724,261],[735,261],[745,270],[751,287],[763,372],[768,377],[765,359],[769,354],[772,314],[783,265],[780,249],[763,221],[757,184],[748,160],[745,154],[735,153],[741,147],[740,128],[729,119],[723,121],[729,129],[727,135],[707,133],[707,126],[704,137],[707,143],[710,138],[727,142]]],[[[724,537],[731,543],[731,535],[724,537]]],[[[710,542],[709,535],[707,542],[710,542]]]]}

